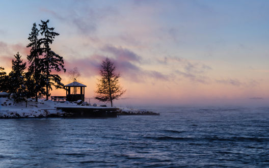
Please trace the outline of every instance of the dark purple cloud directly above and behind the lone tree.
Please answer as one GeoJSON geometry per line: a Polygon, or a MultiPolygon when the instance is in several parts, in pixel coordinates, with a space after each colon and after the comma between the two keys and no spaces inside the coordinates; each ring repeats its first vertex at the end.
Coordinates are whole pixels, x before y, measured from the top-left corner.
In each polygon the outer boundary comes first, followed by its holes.
{"type": "Polygon", "coordinates": [[[145,70],[141,68],[139,65],[141,64],[142,57],[127,48],[105,45],[101,47],[101,50],[108,55],[93,54],[83,59],[68,60],[66,61],[66,65],[68,67],[78,67],[84,75],[94,76],[99,73],[102,61],[106,57],[109,57],[115,63],[117,72],[128,80],[134,82],[144,82],[148,78],[154,80],[170,80],[170,75],[156,70],[145,70]]]}

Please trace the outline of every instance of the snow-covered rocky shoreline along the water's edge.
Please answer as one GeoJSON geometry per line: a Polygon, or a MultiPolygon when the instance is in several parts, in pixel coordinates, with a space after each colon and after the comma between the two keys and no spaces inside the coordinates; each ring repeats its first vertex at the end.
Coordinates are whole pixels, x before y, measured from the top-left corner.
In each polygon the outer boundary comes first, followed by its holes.
{"type": "MultiPolygon", "coordinates": [[[[57,107],[68,108],[96,108],[105,109],[111,107],[92,106],[87,102],[74,103],[74,102],[57,102],[44,99],[34,99],[28,101],[28,107],[25,107],[25,102],[14,102],[12,99],[0,98],[0,119],[13,119],[13,118],[50,118],[50,117],[65,117],[66,113],[57,107]]],[[[129,109],[119,107],[118,115],[159,115],[151,111],[143,111],[137,109],[129,109]]]]}

